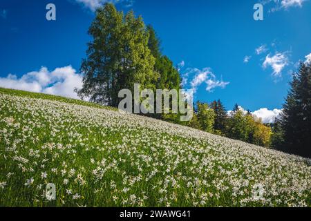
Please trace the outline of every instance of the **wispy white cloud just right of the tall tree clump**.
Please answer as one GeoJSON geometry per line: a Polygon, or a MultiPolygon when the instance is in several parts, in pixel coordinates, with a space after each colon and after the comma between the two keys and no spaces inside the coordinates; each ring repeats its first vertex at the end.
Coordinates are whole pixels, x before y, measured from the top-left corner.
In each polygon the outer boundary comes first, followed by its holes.
{"type": "Polygon", "coordinates": [[[198,86],[203,83],[206,84],[206,90],[209,92],[211,92],[214,88],[225,88],[225,86],[229,84],[229,82],[216,79],[216,76],[211,72],[210,68],[203,68],[202,70],[198,68],[189,68],[189,72],[186,73],[186,75],[193,73],[195,76],[194,79],[192,79],[190,85],[191,89],[194,90],[194,93],[196,93],[198,86]]]}

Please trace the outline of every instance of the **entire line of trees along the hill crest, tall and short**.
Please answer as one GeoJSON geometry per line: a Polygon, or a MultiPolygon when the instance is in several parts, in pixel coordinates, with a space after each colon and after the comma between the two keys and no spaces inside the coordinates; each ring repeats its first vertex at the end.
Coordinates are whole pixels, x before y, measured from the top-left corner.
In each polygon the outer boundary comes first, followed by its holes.
{"type": "MultiPolygon", "coordinates": [[[[87,97],[92,102],[117,107],[119,91],[127,88],[133,93],[134,84],[151,90],[181,88],[178,68],[162,55],[156,31],[151,25],[146,26],[142,17],[135,17],[132,10],[124,15],[112,3],[104,4],[97,8],[88,34],[93,39],[88,43],[80,70],[84,74],[83,86],[75,89],[82,99],[87,97]]],[[[220,100],[211,104],[197,102],[190,122],[180,122],[176,114],[149,114],[149,117],[310,155],[310,81],[310,65],[301,64],[301,70],[294,75],[283,115],[272,125],[263,124],[249,111],[244,113],[238,105],[228,114],[220,100]],[[304,151],[298,151],[303,148],[304,151]]]]}

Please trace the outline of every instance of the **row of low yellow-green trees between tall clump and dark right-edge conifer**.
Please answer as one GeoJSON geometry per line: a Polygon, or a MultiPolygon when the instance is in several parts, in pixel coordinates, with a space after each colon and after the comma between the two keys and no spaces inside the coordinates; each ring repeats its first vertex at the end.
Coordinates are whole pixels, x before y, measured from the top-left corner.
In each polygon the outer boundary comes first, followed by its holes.
{"type": "Polygon", "coordinates": [[[238,104],[228,113],[219,99],[211,104],[197,102],[194,112],[188,126],[259,146],[270,146],[272,128],[249,111],[245,113],[238,104]]]}

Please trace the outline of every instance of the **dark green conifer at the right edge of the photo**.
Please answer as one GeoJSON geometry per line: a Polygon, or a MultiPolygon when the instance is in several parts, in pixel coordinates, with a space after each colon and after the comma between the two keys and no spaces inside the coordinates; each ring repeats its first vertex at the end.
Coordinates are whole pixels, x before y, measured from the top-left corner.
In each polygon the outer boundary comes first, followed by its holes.
{"type": "Polygon", "coordinates": [[[283,105],[281,125],[284,145],[279,149],[288,153],[311,157],[311,64],[301,64],[290,83],[283,105]]]}

